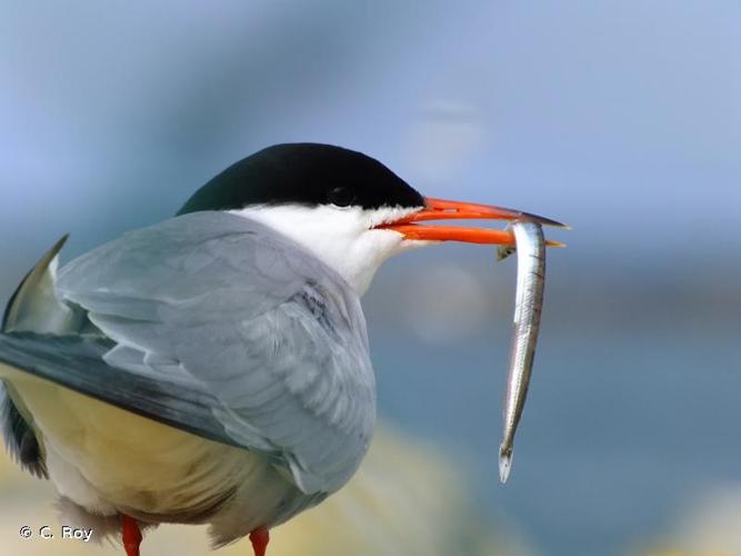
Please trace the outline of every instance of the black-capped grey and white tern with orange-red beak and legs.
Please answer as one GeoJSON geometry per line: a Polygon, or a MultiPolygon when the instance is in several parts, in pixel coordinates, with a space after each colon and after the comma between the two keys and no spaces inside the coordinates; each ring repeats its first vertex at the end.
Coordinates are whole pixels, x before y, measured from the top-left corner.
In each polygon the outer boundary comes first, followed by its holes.
{"type": "Polygon", "coordinates": [[[50,479],[66,523],[139,556],[142,532],[208,524],[214,548],[338,492],[375,421],[361,297],[390,257],[444,241],[513,245],[527,218],[423,197],[388,167],[281,143],[228,167],[171,218],[64,266],[59,239],[10,298],[0,425],[50,479]]]}

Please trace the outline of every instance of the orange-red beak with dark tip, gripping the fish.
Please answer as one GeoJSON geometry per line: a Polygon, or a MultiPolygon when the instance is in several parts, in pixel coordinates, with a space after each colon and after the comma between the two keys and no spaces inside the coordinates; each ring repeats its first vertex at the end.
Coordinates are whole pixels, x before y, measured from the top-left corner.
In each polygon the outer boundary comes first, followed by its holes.
{"type": "MultiPolygon", "coordinates": [[[[512,210],[491,205],[474,202],[447,201],[443,199],[424,199],[425,207],[394,222],[379,226],[382,229],[395,230],[404,239],[421,241],[464,241],[467,244],[514,245],[514,235],[509,230],[487,228],[461,228],[443,225],[420,225],[429,220],[528,220],[543,226],[567,228],[565,225],[541,216],[512,210]]],[[[551,247],[563,247],[559,241],[547,241],[551,247]]]]}

